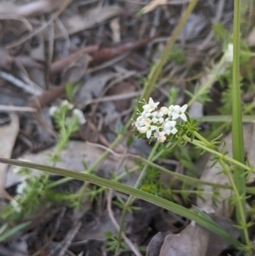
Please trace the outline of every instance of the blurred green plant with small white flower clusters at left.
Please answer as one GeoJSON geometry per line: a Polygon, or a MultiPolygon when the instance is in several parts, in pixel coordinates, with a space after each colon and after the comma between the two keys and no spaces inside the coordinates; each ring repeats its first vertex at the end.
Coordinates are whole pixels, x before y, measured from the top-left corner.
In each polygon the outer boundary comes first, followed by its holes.
{"type": "MultiPolygon", "coordinates": [[[[60,106],[53,106],[49,110],[55,127],[59,130],[58,141],[53,153],[48,155],[48,165],[55,166],[61,161],[61,152],[65,150],[68,141],[80,124],[86,122],[81,111],[73,109],[68,101],[60,106]]],[[[58,193],[51,189],[51,180],[48,174],[31,175],[30,168],[16,168],[15,173],[21,176],[21,183],[17,185],[17,195],[13,197],[7,208],[3,210],[2,219],[17,220],[34,213],[42,202],[66,202],[69,206],[77,207],[78,202],[71,200],[70,191],[58,193]]]]}

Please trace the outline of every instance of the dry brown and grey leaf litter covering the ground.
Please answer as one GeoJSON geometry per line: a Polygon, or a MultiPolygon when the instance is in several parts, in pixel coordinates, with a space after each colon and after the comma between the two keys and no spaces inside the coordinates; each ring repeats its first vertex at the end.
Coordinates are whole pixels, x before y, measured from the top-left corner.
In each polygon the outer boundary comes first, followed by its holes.
{"type": "MultiPolygon", "coordinates": [[[[178,24],[184,4],[188,2],[1,1],[0,72],[3,76],[0,79],[0,105],[20,106],[19,114],[9,114],[10,108],[6,108],[5,115],[11,122],[3,126],[0,124],[0,129],[8,127],[9,133],[0,134],[8,140],[1,139],[4,143],[1,156],[47,162],[57,140],[57,130],[48,115],[48,107],[59,105],[68,96],[66,84],[70,83],[72,88],[77,88],[76,94],[69,95],[71,101],[85,115],[87,123],[72,135],[57,166],[82,172],[107,150],[110,156],[95,169],[96,174],[107,179],[125,174],[122,183],[133,186],[141,166],[135,165],[127,153],[149,156],[151,146],[127,133],[122,143],[113,149],[108,147],[116,138],[116,130],[127,122],[143,89],[142,79],[148,75],[151,63],[158,60],[178,24]],[[23,112],[27,106],[36,108],[37,113],[23,112]],[[130,140],[133,143],[130,144],[130,140]],[[137,169],[129,174],[128,170],[132,168],[137,169]]],[[[187,99],[184,89],[193,92],[196,81],[202,84],[210,80],[210,75],[203,73],[203,67],[209,66],[221,51],[220,43],[213,36],[212,24],[219,22],[230,28],[232,14],[233,3],[230,0],[198,3],[178,37],[177,48],[169,54],[161,81],[153,92],[154,98],[167,103],[169,90],[175,87],[177,102],[183,103],[187,99]],[[197,77],[190,76],[190,66],[194,67],[191,75],[197,77]]],[[[252,33],[247,42],[253,45],[252,33]]],[[[213,80],[209,87],[214,93],[217,91],[217,87],[214,88],[216,81],[213,80]]],[[[214,111],[208,105],[195,104],[191,110],[196,117],[214,111]]],[[[253,138],[253,124],[249,125],[246,134],[253,138]]],[[[229,141],[228,137],[226,140],[229,141]]],[[[248,142],[247,151],[253,154],[252,140],[248,142]]],[[[157,162],[179,173],[194,171],[178,156],[176,151],[157,162]]],[[[221,174],[217,174],[218,167],[209,166],[210,162],[202,174],[197,172],[201,179],[227,184],[221,174]]],[[[13,170],[8,169],[5,190],[3,185],[1,187],[7,202],[16,195],[16,189],[22,183],[13,170]]],[[[33,171],[32,175],[38,173],[33,171]]],[[[59,177],[50,179],[59,180],[59,177]]],[[[171,184],[173,190],[182,188],[175,179],[164,175],[158,175],[158,179],[167,186],[171,184]]],[[[210,192],[207,188],[203,188],[204,191],[210,192]]],[[[69,181],[59,185],[56,191],[73,191],[78,195],[82,189],[80,182],[69,181]]],[[[87,185],[84,192],[97,189],[87,185]]],[[[221,192],[223,200],[217,206],[206,196],[203,200],[199,196],[179,194],[167,198],[187,208],[192,204],[201,209],[209,208],[213,212],[210,213],[212,219],[237,237],[230,219],[231,208],[224,203],[224,198],[229,196],[225,191],[221,192]]],[[[107,193],[104,190],[92,199],[84,196],[82,208],[70,208],[60,202],[40,205],[33,215],[25,218],[31,221],[29,228],[0,244],[0,255],[14,255],[21,251],[24,252],[22,255],[34,256],[114,255],[107,251],[105,232],[117,236],[116,227],[121,225],[122,219],[122,201],[126,201],[127,196],[115,191],[111,196],[107,193]]],[[[74,198],[81,199],[78,196],[74,198]]],[[[224,250],[229,245],[201,226],[148,202],[136,200],[133,208],[135,210],[130,210],[124,221],[124,235],[127,236],[124,240],[128,247],[121,248],[120,255],[227,255],[224,250]],[[144,246],[147,252],[142,249],[139,252],[139,248],[144,246]]],[[[14,226],[14,222],[11,225],[14,226]]]]}

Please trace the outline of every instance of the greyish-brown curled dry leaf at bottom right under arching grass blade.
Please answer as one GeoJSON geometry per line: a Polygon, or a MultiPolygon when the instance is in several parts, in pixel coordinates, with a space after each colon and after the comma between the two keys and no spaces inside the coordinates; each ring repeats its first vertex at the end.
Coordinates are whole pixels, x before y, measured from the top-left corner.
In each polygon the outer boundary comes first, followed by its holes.
{"type": "MultiPolygon", "coordinates": [[[[217,216],[210,217],[236,238],[239,231],[230,219],[217,216]]],[[[228,242],[209,230],[191,222],[179,234],[158,233],[149,243],[146,256],[215,256],[228,247],[228,242]],[[160,248],[159,248],[160,247],[160,248]]]]}

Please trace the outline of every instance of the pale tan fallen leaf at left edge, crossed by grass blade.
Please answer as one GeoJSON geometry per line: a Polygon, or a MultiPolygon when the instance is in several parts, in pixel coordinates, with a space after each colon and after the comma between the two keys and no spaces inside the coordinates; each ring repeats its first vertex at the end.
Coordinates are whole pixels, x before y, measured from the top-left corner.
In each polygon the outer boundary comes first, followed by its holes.
{"type": "MultiPolygon", "coordinates": [[[[10,158],[14,148],[16,137],[20,131],[20,121],[18,115],[9,115],[10,123],[0,126],[0,156],[10,158]]],[[[5,179],[8,166],[0,163],[0,198],[5,195],[5,179]]]]}

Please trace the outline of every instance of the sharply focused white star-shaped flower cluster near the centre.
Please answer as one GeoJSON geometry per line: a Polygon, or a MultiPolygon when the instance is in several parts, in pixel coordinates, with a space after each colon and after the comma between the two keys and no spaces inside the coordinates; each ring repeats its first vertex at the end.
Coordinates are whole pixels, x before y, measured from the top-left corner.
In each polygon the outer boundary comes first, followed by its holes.
{"type": "Polygon", "coordinates": [[[159,142],[164,142],[167,135],[176,134],[178,132],[175,127],[178,118],[184,122],[187,121],[185,111],[187,105],[170,105],[161,107],[156,111],[159,102],[154,102],[151,98],[149,103],[144,100],[143,112],[138,112],[139,117],[133,126],[137,128],[140,134],[146,134],[147,139],[155,138],[159,142]]]}

